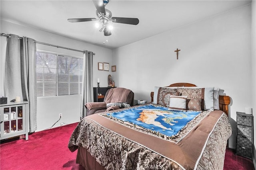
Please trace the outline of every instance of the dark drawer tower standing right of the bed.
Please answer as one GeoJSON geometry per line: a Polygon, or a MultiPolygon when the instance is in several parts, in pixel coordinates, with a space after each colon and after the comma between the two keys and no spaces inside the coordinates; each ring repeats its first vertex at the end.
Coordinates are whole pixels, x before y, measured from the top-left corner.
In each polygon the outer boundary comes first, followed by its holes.
{"type": "Polygon", "coordinates": [[[236,112],[236,154],[252,158],[253,115],[236,112]]]}

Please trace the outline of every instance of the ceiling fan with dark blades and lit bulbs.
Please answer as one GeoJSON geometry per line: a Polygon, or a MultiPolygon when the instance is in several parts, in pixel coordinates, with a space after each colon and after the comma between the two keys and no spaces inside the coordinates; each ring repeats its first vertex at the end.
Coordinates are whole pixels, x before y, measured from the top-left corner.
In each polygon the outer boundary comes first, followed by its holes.
{"type": "Polygon", "coordinates": [[[94,6],[96,7],[96,18],[74,18],[68,19],[70,22],[85,22],[85,21],[100,21],[102,28],[100,32],[104,32],[105,36],[111,35],[108,21],[116,23],[126,23],[131,25],[137,25],[139,23],[138,18],[122,18],[122,17],[112,17],[110,10],[106,9],[105,6],[108,4],[109,0],[92,0],[94,6]]]}

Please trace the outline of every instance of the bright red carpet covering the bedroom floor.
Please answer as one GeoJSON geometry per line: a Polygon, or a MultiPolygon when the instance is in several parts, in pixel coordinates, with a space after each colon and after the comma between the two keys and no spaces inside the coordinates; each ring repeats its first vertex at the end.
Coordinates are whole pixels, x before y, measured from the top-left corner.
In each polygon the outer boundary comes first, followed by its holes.
{"type": "MultiPolygon", "coordinates": [[[[68,141],[77,123],[33,133],[28,141],[1,141],[1,170],[84,170],[68,141]],[[3,143],[4,142],[4,143],[3,143]]],[[[226,149],[224,170],[254,170],[252,160],[226,149]]]]}

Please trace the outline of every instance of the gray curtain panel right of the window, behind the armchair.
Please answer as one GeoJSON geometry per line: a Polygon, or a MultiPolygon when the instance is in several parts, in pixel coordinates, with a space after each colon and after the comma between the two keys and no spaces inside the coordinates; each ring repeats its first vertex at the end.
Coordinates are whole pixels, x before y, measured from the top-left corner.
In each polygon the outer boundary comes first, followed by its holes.
{"type": "Polygon", "coordinates": [[[86,117],[86,108],[84,104],[93,102],[93,82],[92,82],[92,51],[85,51],[83,63],[82,79],[82,100],[80,119],[86,117]]]}

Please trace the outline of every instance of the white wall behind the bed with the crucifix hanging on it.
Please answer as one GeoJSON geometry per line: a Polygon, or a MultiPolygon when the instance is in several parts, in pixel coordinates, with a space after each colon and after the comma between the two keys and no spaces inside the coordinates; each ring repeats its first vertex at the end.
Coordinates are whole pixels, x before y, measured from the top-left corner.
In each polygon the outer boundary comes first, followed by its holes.
{"type": "Polygon", "coordinates": [[[229,146],[235,148],[236,111],[252,106],[250,36],[249,4],[120,47],[113,50],[116,84],[131,89],[134,99],[147,101],[154,86],[188,82],[220,87],[231,97],[229,146]]]}

